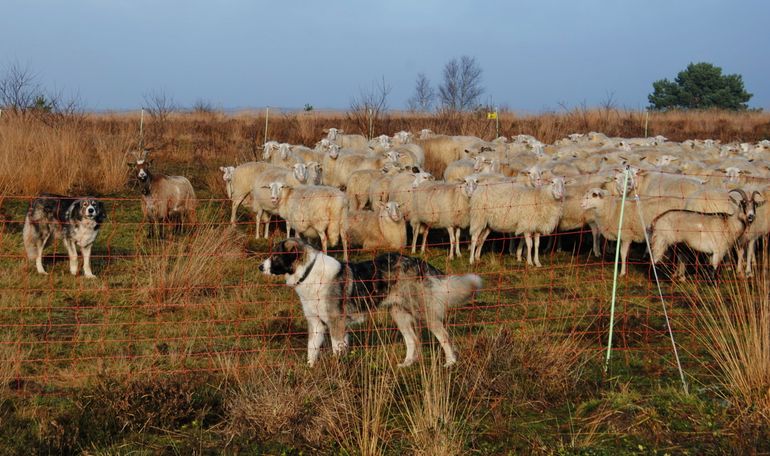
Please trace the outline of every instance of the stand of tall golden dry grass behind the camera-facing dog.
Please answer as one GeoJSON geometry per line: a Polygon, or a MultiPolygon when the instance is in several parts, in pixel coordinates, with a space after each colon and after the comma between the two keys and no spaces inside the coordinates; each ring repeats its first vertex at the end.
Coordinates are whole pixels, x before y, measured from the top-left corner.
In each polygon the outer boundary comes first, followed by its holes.
{"type": "Polygon", "coordinates": [[[0,183],[14,195],[119,191],[131,139],[87,122],[46,124],[31,116],[0,122],[0,183]]]}

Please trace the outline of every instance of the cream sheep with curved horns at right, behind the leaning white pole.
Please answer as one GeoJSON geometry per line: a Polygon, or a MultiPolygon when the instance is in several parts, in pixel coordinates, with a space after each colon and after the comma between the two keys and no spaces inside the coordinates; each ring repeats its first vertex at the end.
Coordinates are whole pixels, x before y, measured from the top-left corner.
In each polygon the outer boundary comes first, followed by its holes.
{"type": "MultiPolygon", "coordinates": [[[[711,254],[711,266],[716,272],[755,217],[755,202],[742,189],[730,190],[729,195],[733,204],[730,214],[674,209],[658,215],[651,225],[653,263],[660,261],[670,246],[682,243],[697,252],[711,254]]],[[[676,277],[684,276],[683,266],[680,262],[676,277]]]]}

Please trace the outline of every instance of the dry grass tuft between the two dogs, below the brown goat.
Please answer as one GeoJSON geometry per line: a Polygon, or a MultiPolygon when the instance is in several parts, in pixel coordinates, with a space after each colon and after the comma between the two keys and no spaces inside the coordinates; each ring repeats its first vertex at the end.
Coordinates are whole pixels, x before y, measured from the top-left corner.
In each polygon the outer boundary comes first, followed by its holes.
{"type": "Polygon", "coordinates": [[[229,226],[203,223],[170,241],[148,241],[138,259],[137,299],[179,305],[218,293],[228,265],[243,256],[239,240],[229,226]]]}

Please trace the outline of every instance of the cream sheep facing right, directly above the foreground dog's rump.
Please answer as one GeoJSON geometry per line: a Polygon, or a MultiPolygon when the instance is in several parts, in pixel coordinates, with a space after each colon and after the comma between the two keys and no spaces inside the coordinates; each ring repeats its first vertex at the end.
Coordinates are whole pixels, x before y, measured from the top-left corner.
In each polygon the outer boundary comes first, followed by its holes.
{"type": "Polygon", "coordinates": [[[417,237],[422,231],[422,247],[425,253],[428,232],[431,228],[444,228],[449,233],[449,259],[461,257],[460,230],[470,224],[470,197],[476,189],[476,181],[425,182],[412,192],[412,253],[417,250],[417,237]]]}

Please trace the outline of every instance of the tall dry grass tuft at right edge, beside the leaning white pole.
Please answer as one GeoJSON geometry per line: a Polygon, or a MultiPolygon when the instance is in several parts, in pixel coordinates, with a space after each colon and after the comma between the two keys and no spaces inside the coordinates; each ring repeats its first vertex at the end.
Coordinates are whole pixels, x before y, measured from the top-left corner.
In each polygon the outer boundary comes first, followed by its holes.
{"type": "MultiPolygon", "coordinates": [[[[691,330],[713,361],[697,357],[739,415],[770,424],[770,276],[687,287],[691,330]]],[[[686,286],[686,285],[685,285],[686,286]]]]}

